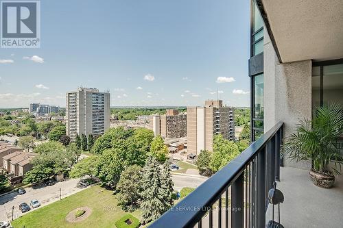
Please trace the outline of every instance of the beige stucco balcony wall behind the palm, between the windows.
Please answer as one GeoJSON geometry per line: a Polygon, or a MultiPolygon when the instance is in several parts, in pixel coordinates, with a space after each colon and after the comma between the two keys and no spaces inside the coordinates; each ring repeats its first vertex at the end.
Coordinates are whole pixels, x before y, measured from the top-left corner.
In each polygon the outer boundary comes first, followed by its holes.
{"type": "MultiPolygon", "coordinates": [[[[267,34],[264,40],[264,130],[283,121],[287,137],[300,119],[311,118],[311,60],[280,64],[267,34]]],[[[310,162],[284,164],[311,168],[310,162]]]]}

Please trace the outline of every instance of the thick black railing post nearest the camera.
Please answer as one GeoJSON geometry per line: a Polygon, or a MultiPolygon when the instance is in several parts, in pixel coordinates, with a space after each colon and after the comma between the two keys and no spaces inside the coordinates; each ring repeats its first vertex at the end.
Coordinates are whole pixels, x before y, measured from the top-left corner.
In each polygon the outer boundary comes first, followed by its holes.
{"type": "Polygon", "coordinates": [[[231,227],[244,227],[244,172],[231,186],[231,227]]]}

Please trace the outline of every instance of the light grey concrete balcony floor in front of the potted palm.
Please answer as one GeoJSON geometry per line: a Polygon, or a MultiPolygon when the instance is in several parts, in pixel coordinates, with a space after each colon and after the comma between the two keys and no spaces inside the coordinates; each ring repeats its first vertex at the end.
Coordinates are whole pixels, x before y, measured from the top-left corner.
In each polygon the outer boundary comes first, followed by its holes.
{"type": "MultiPolygon", "coordinates": [[[[343,176],[336,177],[331,189],[315,186],[309,171],[281,167],[281,181],[277,182],[285,196],[281,203],[281,224],[287,227],[343,227],[343,176]]],[[[266,222],[272,218],[269,205],[266,222]]],[[[278,207],[274,207],[274,220],[278,219],[278,207]]]]}

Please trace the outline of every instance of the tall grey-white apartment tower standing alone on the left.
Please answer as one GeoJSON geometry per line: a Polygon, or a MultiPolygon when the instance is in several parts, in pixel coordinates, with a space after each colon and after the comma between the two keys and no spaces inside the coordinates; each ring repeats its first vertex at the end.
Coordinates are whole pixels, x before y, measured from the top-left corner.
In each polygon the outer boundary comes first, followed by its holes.
{"type": "Polygon", "coordinates": [[[67,92],[67,136],[98,136],[110,127],[110,93],[96,88],[78,88],[67,92]]]}

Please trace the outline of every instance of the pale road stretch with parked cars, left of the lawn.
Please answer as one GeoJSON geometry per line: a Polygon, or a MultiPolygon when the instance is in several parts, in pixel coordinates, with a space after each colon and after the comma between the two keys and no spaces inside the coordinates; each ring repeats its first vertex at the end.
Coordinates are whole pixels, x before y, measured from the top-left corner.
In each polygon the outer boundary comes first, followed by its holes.
{"type": "MultiPolygon", "coordinates": [[[[16,192],[5,194],[4,196],[0,197],[0,220],[10,220],[12,218],[12,206],[14,206],[15,219],[23,214],[28,213],[21,213],[21,211],[19,210],[19,205],[21,203],[25,202],[29,204],[29,201],[32,201],[32,199],[36,199],[40,202],[40,207],[42,207],[43,205],[58,201],[60,198],[60,189],[62,198],[68,197],[71,194],[84,190],[84,186],[78,186],[78,181],[79,179],[71,179],[68,181],[55,183],[53,186],[25,188],[26,193],[22,195],[19,195],[16,192]]],[[[33,210],[36,209],[37,208],[33,210]]],[[[30,210],[30,212],[33,210],[30,210]]]]}

